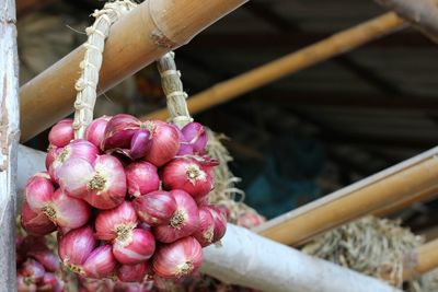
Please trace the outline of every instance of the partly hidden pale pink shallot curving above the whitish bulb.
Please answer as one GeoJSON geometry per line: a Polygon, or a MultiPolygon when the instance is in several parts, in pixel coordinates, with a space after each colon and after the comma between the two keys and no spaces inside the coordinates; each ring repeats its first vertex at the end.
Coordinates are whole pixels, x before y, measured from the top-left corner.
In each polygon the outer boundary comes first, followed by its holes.
{"type": "Polygon", "coordinates": [[[58,183],[58,170],[70,159],[83,159],[89,163],[93,163],[96,157],[99,150],[95,145],[83,139],[77,139],[71,141],[65,148],[59,148],[56,151],[56,155],[51,164],[49,165],[48,172],[54,182],[58,183]]]}

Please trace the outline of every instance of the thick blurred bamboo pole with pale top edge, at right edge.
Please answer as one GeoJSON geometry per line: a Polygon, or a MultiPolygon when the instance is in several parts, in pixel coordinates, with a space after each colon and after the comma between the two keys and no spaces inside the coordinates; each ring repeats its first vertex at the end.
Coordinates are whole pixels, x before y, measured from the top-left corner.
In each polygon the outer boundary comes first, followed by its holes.
{"type": "MultiPolygon", "coordinates": [[[[438,187],[438,147],[275,218],[255,232],[298,245],[330,229],[438,187]]],[[[435,194],[435,192],[429,192],[435,194]]]]}

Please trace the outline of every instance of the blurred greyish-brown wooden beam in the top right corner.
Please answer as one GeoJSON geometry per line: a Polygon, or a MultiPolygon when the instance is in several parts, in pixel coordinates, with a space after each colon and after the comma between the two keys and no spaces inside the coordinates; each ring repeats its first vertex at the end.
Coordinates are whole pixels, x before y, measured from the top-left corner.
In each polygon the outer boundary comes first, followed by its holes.
{"type": "Polygon", "coordinates": [[[438,43],[437,0],[376,0],[376,2],[395,11],[415,28],[438,43]]]}

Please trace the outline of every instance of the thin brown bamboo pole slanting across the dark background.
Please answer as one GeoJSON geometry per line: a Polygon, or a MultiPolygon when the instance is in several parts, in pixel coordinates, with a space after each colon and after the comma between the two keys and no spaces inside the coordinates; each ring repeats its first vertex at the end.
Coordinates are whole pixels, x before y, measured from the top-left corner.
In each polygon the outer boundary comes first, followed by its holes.
{"type": "MultiPolygon", "coordinates": [[[[314,45],[286,55],[262,67],[240,74],[228,81],[193,95],[187,100],[189,113],[200,113],[218,104],[228,102],[246,92],[258,89],[279,78],[327,60],[334,56],[357,48],[405,26],[395,13],[387,13],[346,31],[334,34],[314,45]]],[[[166,119],[165,108],[148,114],[143,119],[166,119]]]]}

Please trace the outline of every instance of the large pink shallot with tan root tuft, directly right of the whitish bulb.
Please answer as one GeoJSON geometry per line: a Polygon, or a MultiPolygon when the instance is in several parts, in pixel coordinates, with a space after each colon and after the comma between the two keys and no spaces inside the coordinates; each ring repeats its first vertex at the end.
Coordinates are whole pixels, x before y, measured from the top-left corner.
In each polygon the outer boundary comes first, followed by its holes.
{"type": "Polygon", "coordinates": [[[94,171],[84,199],[101,210],[119,206],[126,195],[126,175],[122,163],[112,155],[100,155],[94,162],[94,171]]]}

